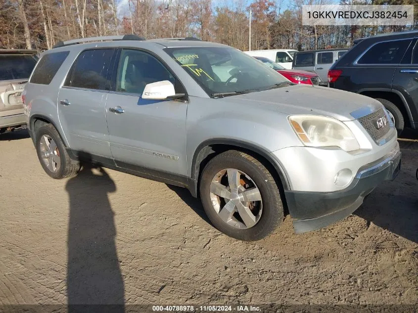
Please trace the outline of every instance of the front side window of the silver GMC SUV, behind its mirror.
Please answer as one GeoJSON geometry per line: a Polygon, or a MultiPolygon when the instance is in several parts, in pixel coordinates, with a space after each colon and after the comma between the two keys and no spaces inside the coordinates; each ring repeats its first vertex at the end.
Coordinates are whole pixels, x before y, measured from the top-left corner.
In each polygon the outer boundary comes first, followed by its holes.
{"type": "Polygon", "coordinates": [[[116,91],[142,94],[147,84],[160,81],[175,85],[174,76],[154,56],[139,50],[122,50],[116,91]]]}

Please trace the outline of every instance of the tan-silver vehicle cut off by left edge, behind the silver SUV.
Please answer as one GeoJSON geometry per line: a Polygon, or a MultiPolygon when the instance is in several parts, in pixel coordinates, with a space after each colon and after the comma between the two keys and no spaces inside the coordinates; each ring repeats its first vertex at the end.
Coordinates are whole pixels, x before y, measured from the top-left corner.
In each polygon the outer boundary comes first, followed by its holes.
{"type": "Polygon", "coordinates": [[[22,91],[38,60],[36,50],[0,49],[0,134],[22,126],[22,91]]]}

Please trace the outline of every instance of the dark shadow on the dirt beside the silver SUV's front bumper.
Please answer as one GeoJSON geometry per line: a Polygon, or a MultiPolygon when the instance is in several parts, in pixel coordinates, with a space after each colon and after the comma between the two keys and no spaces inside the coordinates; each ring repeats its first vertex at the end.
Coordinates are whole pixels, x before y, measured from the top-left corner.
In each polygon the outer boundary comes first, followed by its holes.
{"type": "Polygon", "coordinates": [[[418,142],[408,147],[401,148],[403,155],[398,177],[374,189],[354,214],[418,243],[418,142]]]}

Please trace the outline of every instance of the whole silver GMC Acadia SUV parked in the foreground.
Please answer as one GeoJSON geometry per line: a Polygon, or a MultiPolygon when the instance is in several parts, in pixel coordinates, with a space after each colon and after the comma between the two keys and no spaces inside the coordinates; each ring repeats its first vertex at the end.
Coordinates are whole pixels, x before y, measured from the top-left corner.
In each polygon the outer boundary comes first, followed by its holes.
{"type": "Polygon", "coordinates": [[[258,240],[290,214],[297,233],[355,211],[400,168],[380,102],[294,85],[251,56],[133,35],[46,51],[25,87],[27,125],[54,179],[80,161],[188,188],[212,223],[258,240]]]}

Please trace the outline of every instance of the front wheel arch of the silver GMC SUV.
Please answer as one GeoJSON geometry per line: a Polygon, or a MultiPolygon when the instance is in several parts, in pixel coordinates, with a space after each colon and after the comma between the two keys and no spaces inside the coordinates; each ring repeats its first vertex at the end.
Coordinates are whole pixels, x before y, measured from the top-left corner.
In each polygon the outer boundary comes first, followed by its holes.
{"type": "Polygon", "coordinates": [[[258,159],[273,175],[279,185],[283,205],[285,205],[284,190],[290,190],[289,181],[283,167],[273,159],[273,156],[265,149],[252,143],[236,139],[216,138],[203,141],[193,153],[191,162],[191,185],[189,190],[193,196],[198,196],[198,184],[200,175],[205,165],[216,155],[227,150],[239,150],[258,159]]]}

